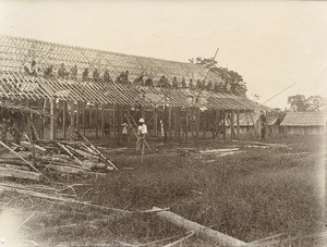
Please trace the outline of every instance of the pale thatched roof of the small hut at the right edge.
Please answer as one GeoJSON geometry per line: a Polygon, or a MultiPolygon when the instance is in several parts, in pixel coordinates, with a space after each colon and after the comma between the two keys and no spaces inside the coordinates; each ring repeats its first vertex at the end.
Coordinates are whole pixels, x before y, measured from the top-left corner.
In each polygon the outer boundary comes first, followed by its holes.
{"type": "Polygon", "coordinates": [[[326,115],[323,112],[288,112],[281,126],[324,126],[326,115]]]}

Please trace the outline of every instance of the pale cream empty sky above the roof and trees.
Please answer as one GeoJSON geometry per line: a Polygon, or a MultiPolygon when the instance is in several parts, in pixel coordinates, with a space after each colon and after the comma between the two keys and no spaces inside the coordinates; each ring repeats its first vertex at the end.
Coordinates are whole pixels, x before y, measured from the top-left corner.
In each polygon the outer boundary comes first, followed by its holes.
{"type": "Polygon", "coordinates": [[[213,57],[261,102],[327,97],[327,2],[4,1],[0,34],[180,62],[213,57]]]}

